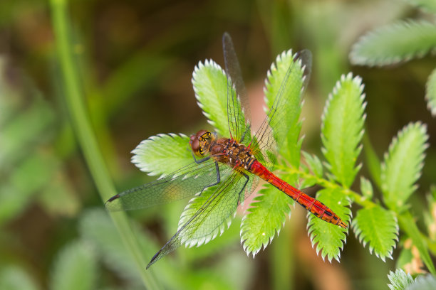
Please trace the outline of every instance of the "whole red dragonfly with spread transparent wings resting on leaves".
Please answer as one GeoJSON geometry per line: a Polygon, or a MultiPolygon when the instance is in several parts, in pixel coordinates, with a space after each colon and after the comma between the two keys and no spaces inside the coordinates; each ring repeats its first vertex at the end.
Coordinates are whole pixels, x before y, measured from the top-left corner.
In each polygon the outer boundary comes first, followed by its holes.
{"type": "Polygon", "coordinates": [[[192,163],[143,186],[118,193],[105,203],[111,211],[135,210],[200,196],[207,190],[212,190],[204,203],[184,218],[175,235],[152,257],[147,269],[181,245],[201,245],[212,240],[216,236],[214,232],[222,228],[236,213],[238,205],[254,191],[259,179],[271,183],[317,218],[343,228],[348,227],[326,205],[271,172],[277,162],[274,154],[277,154],[278,140],[286,134],[286,126],[281,123],[289,113],[284,109],[284,103],[291,67],[301,65],[303,87],[306,87],[311,73],[310,51],[296,53],[264,122],[251,136],[246,88],[232,38],[228,33],[224,33],[222,45],[227,76],[229,137],[217,136],[217,133],[205,129],[199,130],[190,136],[192,163]]]}

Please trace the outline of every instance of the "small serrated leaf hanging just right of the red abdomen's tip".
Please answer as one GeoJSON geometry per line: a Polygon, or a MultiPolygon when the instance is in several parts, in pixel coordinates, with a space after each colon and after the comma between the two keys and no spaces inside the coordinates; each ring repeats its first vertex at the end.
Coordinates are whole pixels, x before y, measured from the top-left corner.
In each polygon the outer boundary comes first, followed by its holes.
{"type": "Polygon", "coordinates": [[[370,253],[385,262],[385,258],[392,259],[392,252],[398,240],[398,222],[395,214],[385,210],[380,205],[358,210],[353,220],[355,236],[363,247],[368,243],[370,253]]]}

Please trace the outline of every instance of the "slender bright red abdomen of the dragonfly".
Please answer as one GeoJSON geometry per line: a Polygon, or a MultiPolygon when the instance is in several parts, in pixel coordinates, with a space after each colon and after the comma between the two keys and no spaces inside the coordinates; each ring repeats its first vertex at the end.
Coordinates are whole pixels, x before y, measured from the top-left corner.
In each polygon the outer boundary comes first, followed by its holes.
{"type": "Polygon", "coordinates": [[[249,168],[249,171],[264,179],[264,181],[271,183],[273,186],[286,193],[286,195],[289,195],[289,197],[302,205],[303,208],[306,208],[306,210],[313,213],[313,215],[316,215],[316,217],[321,218],[321,220],[325,220],[326,222],[330,222],[343,228],[348,227],[341,218],[336,215],[336,213],[333,213],[333,211],[321,203],[321,201],[311,198],[301,190],[298,190],[294,188],[294,186],[290,186],[285,181],[282,181],[280,178],[275,176],[274,173],[259,163],[259,161],[254,161],[249,168]]]}

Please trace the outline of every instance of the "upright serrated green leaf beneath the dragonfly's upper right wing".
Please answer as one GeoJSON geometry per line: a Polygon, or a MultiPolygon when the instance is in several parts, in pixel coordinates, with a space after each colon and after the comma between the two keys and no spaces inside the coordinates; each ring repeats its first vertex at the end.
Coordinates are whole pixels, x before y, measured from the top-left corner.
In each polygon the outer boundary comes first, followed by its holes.
{"type": "Polygon", "coordinates": [[[284,51],[277,56],[276,63],[271,64],[267,73],[264,93],[266,109],[270,109],[276,102],[274,106],[277,110],[269,119],[269,124],[274,130],[279,152],[289,163],[298,167],[301,149],[299,117],[302,107],[301,92],[305,81],[303,68],[305,64],[301,61],[294,61],[295,56],[292,50],[284,51]],[[286,82],[284,82],[285,77],[288,77],[286,82]]]}

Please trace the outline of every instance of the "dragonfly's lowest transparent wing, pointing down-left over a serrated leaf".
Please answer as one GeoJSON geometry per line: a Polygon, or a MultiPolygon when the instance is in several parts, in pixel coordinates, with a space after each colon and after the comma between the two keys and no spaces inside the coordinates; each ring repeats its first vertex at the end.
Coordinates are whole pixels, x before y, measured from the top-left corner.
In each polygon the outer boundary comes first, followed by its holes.
{"type": "Polygon", "coordinates": [[[252,182],[246,174],[233,171],[217,189],[191,200],[190,204],[197,198],[205,201],[198,210],[190,211],[187,205],[176,234],[152,257],[147,268],[181,245],[202,245],[221,235],[244,200],[244,190],[252,191],[252,182]]]}

